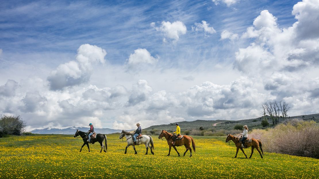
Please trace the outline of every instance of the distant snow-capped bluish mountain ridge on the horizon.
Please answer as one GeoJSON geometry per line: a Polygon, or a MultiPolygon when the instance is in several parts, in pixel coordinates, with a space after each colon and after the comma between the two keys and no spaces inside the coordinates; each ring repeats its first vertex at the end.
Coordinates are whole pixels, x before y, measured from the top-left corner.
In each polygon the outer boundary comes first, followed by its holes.
{"type": "MultiPolygon", "coordinates": [[[[76,130],[80,130],[83,132],[87,132],[90,130],[89,127],[80,127],[80,126],[70,126],[70,127],[48,127],[45,129],[34,129],[31,131],[34,134],[75,134],[76,130]]],[[[122,132],[119,129],[109,129],[109,128],[94,128],[95,132],[102,133],[102,134],[111,134],[115,132],[122,132]]]]}

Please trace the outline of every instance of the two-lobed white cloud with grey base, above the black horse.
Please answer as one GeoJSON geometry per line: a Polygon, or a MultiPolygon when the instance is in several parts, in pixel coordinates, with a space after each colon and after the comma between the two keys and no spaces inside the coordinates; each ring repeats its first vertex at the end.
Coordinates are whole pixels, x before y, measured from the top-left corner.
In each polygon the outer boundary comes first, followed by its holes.
{"type": "Polygon", "coordinates": [[[79,85],[90,80],[92,64],[104,63],[106,51],[100,47],[84,44],[78,48],[77,61],[60,64],[51,71],[48,81],[51,90],[79,85]]]}

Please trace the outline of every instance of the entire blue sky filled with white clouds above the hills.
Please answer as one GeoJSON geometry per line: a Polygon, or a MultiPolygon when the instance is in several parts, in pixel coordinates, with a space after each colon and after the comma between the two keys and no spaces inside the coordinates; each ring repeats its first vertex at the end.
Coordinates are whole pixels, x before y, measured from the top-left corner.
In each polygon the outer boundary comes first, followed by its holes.
{"type": "Polygon", "coordinates": [[[311,113],[318,1],[297,3],[2,1],[0,113],[30,129],[254,118],[267,100],[311,113]]]}

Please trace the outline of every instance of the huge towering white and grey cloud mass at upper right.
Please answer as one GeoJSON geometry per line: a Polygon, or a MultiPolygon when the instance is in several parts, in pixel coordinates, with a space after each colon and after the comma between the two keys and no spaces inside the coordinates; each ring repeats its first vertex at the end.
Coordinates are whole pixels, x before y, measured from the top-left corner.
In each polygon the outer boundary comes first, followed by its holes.
{"type": "Polygon", "coordinates": [[[319,4],[311,0],[297,3],[293,14],[298,20],[288,28],[280,29],[277,18],[263,10],[241,38],[255,39],[249,47],[240,48],[234,67],[245,72],[256,70],[296,71],[319,62],[319,35],[317,33],[319,4]],[[314,12],[310,14],[309,12],[314,12]]]}

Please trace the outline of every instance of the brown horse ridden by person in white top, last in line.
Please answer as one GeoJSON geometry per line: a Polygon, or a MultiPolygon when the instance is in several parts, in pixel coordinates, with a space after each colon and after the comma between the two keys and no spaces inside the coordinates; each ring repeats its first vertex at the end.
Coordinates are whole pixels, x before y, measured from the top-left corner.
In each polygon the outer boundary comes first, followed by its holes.
{"type": "MultiPolygon", "coordinates": [[[[237,147],[236,155],[235,155],[234,158],[237,157],[237,154],[238,154],[238,150],[239,150],[239,149],[241,149],[242,153],[244,153],[244,155],[245,155],[246,158],[247,158],[247,155],[245,154],[244,150],[241,148],[241,143],[239,142],[240,138],[228,134],[227,139],[226,139],[226,142],[228,142],[229,140],[232,140],[232,141],[235,143],[236,147],[237,147]]],[[[260,141],[260,140],[251,138],[251,142],[246,143],[246,146],[247,146],[246,148],[251,147],[251,154],[250,154],[250,157],[249,157],[249,158],[251,158],[251,156],[253,155],[253,153],[254,153],[254,148],[257,149],[257,151],[259,152],[261,158],[263,158],[263,155],[260,153],[260,150],[261,150],[261,152],[263,153],[263,148],[262,148],[262,145],[261,145],[261,141],[260,141]],[[260,147],[260,150],[259,150],[259,147],[260,147]]]]}

